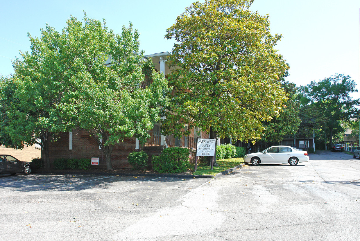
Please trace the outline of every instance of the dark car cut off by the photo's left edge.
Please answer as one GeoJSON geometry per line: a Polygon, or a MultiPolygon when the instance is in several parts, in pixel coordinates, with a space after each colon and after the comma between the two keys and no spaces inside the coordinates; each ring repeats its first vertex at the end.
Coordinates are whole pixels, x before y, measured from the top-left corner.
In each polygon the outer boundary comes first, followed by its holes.
{"type": "Polygon", "coordinates": [[[30,162],[21,162],[10,155],[0,155],[0,174],[15,175],[18,172],[30,174],[32,165],[30,162]]]}

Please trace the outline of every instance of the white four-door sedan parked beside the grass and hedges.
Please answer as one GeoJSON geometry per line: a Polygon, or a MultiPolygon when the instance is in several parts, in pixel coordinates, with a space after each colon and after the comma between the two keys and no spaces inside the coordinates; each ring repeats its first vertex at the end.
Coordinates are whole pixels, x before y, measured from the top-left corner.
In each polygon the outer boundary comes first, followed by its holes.
{"type": "Polygon", "coordinates": [[[264,151],[244,156],[244,162],[258,165],[260,163],[289,163],[294,166],[299,162],[308,162],[307,151],[291,146],[271,146],[264,151]]]}

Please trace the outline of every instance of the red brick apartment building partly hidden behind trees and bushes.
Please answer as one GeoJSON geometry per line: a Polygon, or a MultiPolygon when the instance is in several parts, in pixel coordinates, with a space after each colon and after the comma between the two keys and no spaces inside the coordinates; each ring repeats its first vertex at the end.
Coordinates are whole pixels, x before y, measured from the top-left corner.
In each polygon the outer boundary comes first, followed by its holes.
{"type": "MultiPolygon", "coordinates": [[[[166,64],[166,58],[170,53],[163,52],[152,55],[146,55],[145,58],[152,58],[155,65],[155,69],[162,72],[167,76],[170,73],[170,69],[166,64]]],[[[182,131],[187,130],[187,126],[184,126],[182,131]]],[[[132,168],[127,161],[127,156],[138,150],[144,150],[149,155],[148,164],[151,162],[152,155],[159,155],[161,151],[169,146],[179,146],[189,148],[190,161],[194,159],[196,138],[209,138],[209,134],[199,130],[195,127],[190,130],[189,136],[182,136],[176,138],[173,135],[164,136],[161,133],[161,123],[156,123],[154,128],[149,131],[150,138],[144,145],[139,144],[139,140],[135,137],[125,138],[123,142],[114,145],[111,162],[113,169],[126,169],[132,168]]],[[[106,168],[105,155],[100,149],[98,143],[93,137],[84,130],[75,129],[72,132],[63,132],[59,134],[59,141],[49,143],[49,158],[50,164],[57,158],[99,158],[99,165],[92,166],[92,168],[106,168]]],[[[42,151],[42,157],[45,157],[44,151],[42,151]]]]}

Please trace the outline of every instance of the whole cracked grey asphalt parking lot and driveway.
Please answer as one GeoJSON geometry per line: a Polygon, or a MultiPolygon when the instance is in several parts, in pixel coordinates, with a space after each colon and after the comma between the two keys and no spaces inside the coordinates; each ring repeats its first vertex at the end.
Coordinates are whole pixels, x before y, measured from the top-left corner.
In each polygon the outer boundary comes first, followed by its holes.
{"type": "Polygon", "coordinates": [[[330,151],[214,179],[0,175],[0,240],[360,240],[359,187],[330,151]]]}

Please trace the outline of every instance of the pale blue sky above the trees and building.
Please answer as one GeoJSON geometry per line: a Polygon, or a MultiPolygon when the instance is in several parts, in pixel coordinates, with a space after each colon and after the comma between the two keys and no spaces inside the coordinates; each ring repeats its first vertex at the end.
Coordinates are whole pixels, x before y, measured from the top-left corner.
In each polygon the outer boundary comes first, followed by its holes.
{"type": "MultiPolygon", "coordinates": [[[[193,0],[117,1],[3,1],[0,27],[0,74],[13,73],[11,59],[19,50],[30,51],[27,32],[40,36],[45,23],[61,31],[73,15],[106,19],[107,26],[121,32],[129,22],[140,32],[145,54],[171,51],[166,28],[175,23],[193,0]]],[[[270,29],[281,33],[276,46],[290,64],[288,81],[297,86],[335,73],[350,75],[359,88],[359,0],[255,0],[251,10],[270,15],[270,29]]],[[[359,92],[354,94],[359,97],[359,92]]]]}

